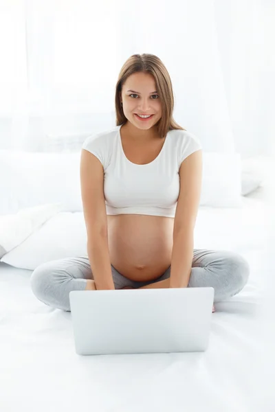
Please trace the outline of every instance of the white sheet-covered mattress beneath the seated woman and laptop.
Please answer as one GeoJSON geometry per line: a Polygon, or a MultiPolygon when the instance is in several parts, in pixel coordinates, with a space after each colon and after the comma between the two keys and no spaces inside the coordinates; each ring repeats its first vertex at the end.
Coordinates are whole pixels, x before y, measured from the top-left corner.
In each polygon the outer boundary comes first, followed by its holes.
{"type": "Polygon", "coordinates": [[[272,375],[260,375],[273,352],[261,332],[265,216],[256,198],[199,209],[195,247],[239,251],[251,266],[241,293],[216,304],[206,352],[79,356],[71,312],[36,299],[32,271],[0,263],[0,410],[275,411],[272,375]]]}

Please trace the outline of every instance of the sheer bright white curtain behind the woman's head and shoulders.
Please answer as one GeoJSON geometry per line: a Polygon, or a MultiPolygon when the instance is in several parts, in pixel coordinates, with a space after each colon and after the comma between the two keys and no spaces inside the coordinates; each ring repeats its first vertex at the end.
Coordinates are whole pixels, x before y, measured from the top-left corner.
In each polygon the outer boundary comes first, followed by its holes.
{"type": "Polygon", "coordinates": [[[115,126],[132,54],[166,65],[174,118],[206,151],[270,155],[272,1],[0,0],[0,149],[79,150],[115,126]]]}

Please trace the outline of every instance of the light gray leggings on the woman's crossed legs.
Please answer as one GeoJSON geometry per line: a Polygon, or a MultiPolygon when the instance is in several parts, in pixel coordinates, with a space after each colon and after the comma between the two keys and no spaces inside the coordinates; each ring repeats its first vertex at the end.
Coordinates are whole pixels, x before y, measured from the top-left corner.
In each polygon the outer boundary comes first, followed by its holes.
{"type": "MultiPolygon", "coordinates": [[[[140,288],[170,277],[170,266],[157,279],[135,282],[111,266],[115,289],[125,286],[140,288]]],[[[214,302],[239,293],[248,282],[250,266],[239,253],[209,249],[194,249],[188,287],[212,286],[214,302]]],[[[40,264],[30,277],[34,295],[48,306],[70,312],[69,292],[85,290],[86,279],[94,279],[87,256],[51,260],[40,264]]]]}

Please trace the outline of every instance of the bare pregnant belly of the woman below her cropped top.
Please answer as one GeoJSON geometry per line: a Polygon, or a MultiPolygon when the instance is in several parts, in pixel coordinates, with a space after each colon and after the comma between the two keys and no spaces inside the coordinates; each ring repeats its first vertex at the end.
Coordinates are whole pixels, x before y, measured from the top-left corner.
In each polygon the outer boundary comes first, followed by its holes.
{"type": "Polygon", "coordinates": [[[107,215],[111,264],[137,282],[157,279],[170,266],[174,218],[107,215]]]}

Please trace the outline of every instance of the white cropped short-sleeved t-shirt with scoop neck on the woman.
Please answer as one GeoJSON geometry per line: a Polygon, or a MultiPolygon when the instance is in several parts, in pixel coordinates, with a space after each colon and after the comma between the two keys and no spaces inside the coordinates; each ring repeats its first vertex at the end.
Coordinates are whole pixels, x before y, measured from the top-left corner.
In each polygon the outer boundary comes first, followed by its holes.
{"type": "Polygon", "coordinates": [[[186,130],[169,130],[156,159],[137,165],[124,154],[121,127],[91,135],[82,146],[102,163],[107,215],[144,214],[175,218],[179,168],[186,157],[202,149],[199,139],[186,130]]]}

